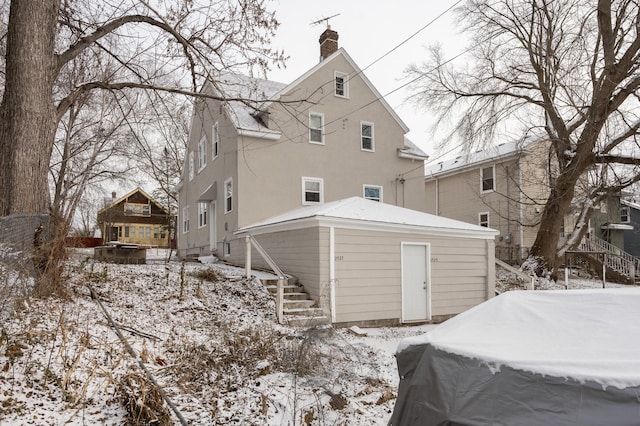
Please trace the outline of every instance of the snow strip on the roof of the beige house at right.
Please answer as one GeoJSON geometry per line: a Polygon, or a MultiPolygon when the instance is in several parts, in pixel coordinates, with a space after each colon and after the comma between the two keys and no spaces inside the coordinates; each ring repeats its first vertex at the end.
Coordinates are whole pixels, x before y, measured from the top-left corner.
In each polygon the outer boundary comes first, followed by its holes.
{"type": "Polygon", "coordinates": [[[497,146],[478,150],[467,155],[459,155],[450,160],[439,161],[437,163],[427,164],[425,167],[425,177],[439,176],[452,172],[454,170],[463,169],[490,161],[498,161],[504,158],[514,157],[523,152],[527,146],[534,141],[540,139],[527,138],[512,142],[501,143],[497,146]]]}

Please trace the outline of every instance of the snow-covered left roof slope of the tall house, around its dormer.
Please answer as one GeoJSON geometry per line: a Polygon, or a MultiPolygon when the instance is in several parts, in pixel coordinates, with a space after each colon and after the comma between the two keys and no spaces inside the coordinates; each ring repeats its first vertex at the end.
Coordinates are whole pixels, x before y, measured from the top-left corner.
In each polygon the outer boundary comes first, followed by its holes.
{"type": "Polygon", "coordinates": [[[229,101],[230,119],[237,129],[264,133],[277,133],[256,118],[256,110],[271,100],[286,84],[248,77],[241,74],[225,73],[218,76],[215,86],[228,98],[242,98],[248,102],[229,101]]]}

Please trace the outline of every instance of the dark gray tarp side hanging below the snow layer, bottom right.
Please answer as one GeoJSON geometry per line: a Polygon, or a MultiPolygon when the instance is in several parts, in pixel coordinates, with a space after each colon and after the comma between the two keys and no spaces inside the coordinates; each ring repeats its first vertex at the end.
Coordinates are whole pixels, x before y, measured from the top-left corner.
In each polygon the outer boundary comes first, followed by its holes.
{"type": "Polygon", "coordinates": [[[393,426],[640,425],[640,387],[605,388],[504,365],[492,372],[482,361],[429,343],[396,356],[400,386],[393,426]]]}

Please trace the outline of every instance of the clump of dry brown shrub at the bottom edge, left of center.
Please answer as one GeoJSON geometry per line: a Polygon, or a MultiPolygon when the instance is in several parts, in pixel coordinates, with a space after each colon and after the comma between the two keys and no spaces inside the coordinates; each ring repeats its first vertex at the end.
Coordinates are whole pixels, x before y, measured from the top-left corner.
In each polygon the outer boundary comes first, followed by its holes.
{"type": "Polygon", "coordinates": [[[127,425],[172,425],[169,410],[159,389],[149,378],[133,372],[120,379],[118,394],[126,415],[127,425]]]}

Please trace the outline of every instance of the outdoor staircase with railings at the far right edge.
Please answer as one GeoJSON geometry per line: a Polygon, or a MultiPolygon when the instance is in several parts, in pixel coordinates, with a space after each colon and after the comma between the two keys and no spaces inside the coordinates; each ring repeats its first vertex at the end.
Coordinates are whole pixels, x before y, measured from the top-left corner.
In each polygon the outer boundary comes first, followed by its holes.
{"type": "Polygon", "coordinates": [[[627,284],[640,282],[640,259],[601,238],[585,236],[574,253],[580,255],[596,270],[602,268],[602,255],[599,253],[606,253],[605,266],[608,277],[627,284]]]}

